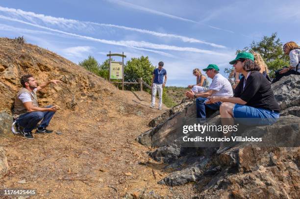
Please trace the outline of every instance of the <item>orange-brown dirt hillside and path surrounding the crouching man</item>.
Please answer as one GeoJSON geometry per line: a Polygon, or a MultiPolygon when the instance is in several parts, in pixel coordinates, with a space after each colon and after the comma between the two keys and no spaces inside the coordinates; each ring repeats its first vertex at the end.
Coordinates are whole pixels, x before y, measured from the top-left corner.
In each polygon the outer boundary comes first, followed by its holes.
{"type": "MultiPolygon", "coordinates": [[[[148,161],[148,147],[135,141],[162,111],[150,109],[150,95],[121,91],[65,58],[31,44],[0,38],[0,189],[36,189],[33,198],[173,197],[157,184],[167,173],[148,161]],[[39,83],[59,79],[39,93],[41,105],[57,104],[54,133],[26,140],[10,132],[11,106],[19,78],[32,73],[39,83]],[[56,134],[59,133],[59,134],[56,134]]],[[[163,106],[163,110],[167,110],[163,106]]]]}

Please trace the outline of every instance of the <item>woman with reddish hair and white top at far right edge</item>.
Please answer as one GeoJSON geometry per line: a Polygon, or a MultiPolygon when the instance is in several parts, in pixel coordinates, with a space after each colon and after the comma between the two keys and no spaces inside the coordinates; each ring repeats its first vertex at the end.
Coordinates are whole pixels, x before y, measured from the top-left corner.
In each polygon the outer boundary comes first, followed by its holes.
{"type": "Polygon", "coordinates": [[[275,71],[275,78],[272,84],[277,82],[281,77],[288,75],[300,75],[300,46],[295,42],[288,42],[283,45],[284,54],[290,57],[290,66],[275,71]]]}

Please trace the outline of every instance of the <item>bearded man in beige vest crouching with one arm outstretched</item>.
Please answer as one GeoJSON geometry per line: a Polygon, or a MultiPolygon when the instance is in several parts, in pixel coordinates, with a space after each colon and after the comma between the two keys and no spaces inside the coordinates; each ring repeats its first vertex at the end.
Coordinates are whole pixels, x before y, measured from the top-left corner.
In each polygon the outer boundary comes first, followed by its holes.
{"type": "Polygon", "coordinates": [[[14,105],[14,118],[17,120],[19,127],[23,127],[20,131],[27,139],[33,139],[31,131],[36,128],[39,121],[43,119],[41,124],[37,127],[36,133],[52,133],[47,130],[50,120],[55,111],[59,109],[58,106],[48,106],[40,108],[36,92],[47,87],[50,83],[57,84],[59,80],[51,80],[37,86],[37,82],[31,74],[21,77],[21,84],[23,88],[17,93],[14,105]]]}

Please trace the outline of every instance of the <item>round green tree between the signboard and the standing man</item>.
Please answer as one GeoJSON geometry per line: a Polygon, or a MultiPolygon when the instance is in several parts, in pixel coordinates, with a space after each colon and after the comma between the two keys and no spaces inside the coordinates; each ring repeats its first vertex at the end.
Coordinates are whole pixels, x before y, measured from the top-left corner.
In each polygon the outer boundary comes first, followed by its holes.
{"type": "MultiPolygon", "coordinates": [[[[150,85],[154,68],[155,67],[152,66],[151,62],[149,61],[148,56],[131,58],[131,60],[126,62],[124,67],[124,80],[125,82],[137,82],[139,78],[143,78],[143,80],[150,85]]],[[[139,86],[137,85],[125,85],[125,87],[131,87],[131,89],[134,90],[139,89],[139,86]]]]}

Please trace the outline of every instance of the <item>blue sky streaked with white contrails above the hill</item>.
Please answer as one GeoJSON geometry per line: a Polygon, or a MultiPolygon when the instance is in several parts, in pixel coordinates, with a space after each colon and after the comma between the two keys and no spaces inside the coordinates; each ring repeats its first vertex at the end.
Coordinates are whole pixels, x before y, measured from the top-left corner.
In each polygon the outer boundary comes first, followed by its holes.
{"type": "Polygon", "coordinates": [[[236,49],[273,32],[300,44],[299,22],[296,0],[0,1],[0,37],[24,35],[76,64],[109,51],[149,56],[165,63],[167,86],[195,84],[193,68],[208,64],[224,74],[236,49]]]}

